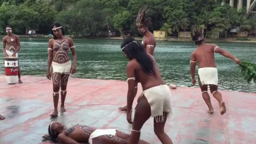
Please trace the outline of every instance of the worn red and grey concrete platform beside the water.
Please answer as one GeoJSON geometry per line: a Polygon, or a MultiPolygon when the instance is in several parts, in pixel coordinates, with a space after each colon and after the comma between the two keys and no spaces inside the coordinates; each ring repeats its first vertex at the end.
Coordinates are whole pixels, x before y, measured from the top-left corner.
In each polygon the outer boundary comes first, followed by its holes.
{"type": "MultiPolygon", "coordinates": [[[[51,121],[64,122],[68,127],[79,123],[131,132],[126,114],[117,109],[126,104],[126,82],[70,77],[67,112],[51,119],[52,81],[40,76],[23,76],[22,80],[22,84],[11,85],[0,76],[0,114],[6,116],[0,121],[0,144],[48,144],[42,142],[42,136],[51,121]]],[[[222,94],[227,112],[221,116],[214,98],[215,113],[207,113],[200,89],[172,90],[173,114],[165,130],[174,144],[256,144],[256,94],[222,94]]],[[[143,126],[141,139],[161,144],[154,134],[152,118],[143,126]]]]}

